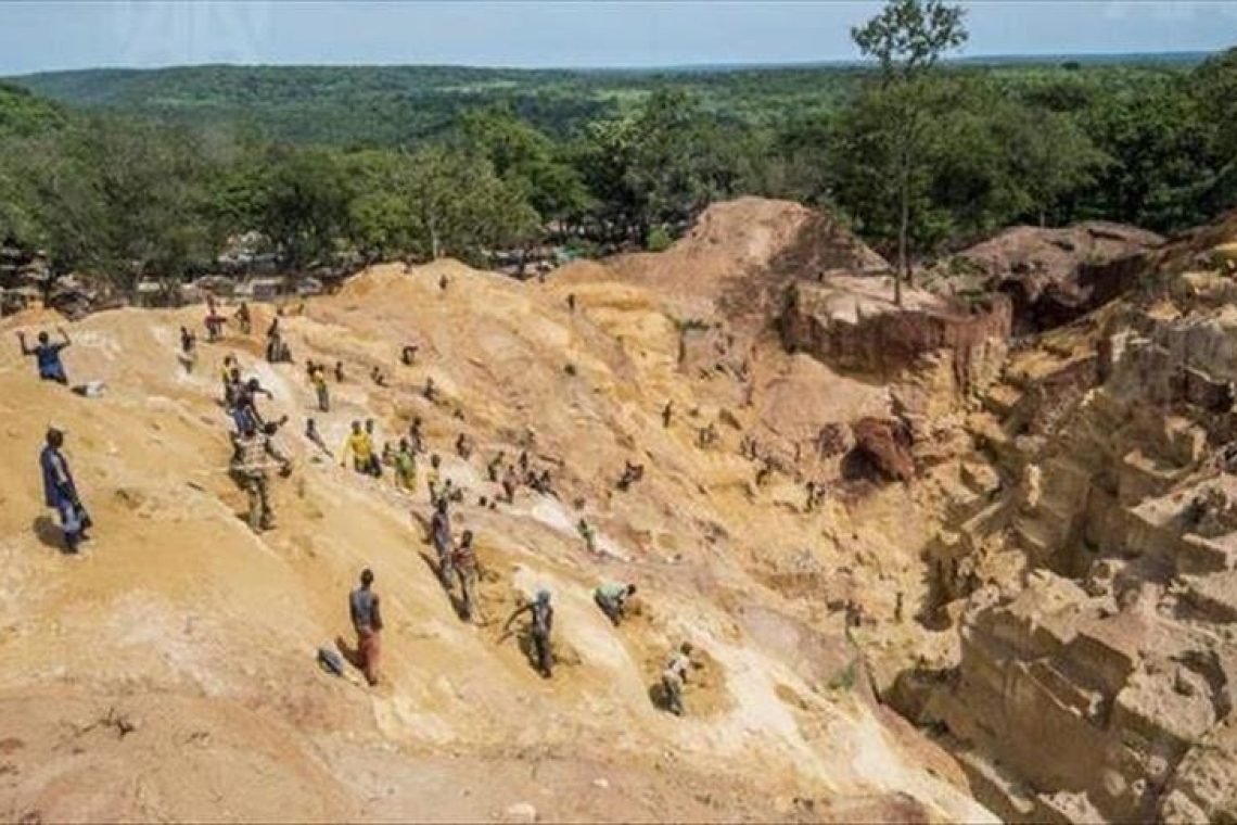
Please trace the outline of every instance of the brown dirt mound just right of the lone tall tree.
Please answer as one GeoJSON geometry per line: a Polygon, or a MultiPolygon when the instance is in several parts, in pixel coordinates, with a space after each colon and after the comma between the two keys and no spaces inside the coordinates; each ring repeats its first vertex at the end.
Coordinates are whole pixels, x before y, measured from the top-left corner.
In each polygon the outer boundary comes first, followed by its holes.
{"type": "Polygon", "coordinates": [[[1013,301],[1014,334],[1053,329],[1131,288],[1164,239],[1134,226],[1090,221],[1059,229],[1014,226],[948,263],[1013,301]]]}

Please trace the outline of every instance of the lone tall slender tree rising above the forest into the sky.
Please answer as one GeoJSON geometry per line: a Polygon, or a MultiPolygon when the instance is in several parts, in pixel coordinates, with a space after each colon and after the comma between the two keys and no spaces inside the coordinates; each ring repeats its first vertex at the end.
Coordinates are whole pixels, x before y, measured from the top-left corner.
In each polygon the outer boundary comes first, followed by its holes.
{"type": "Polygon", "coordinates": [[[893,104],[887,124],[892,136],[893,168],[898,192],[898,272],[893,299],[902,304],[902,282],[910,282],[909,233],[912,188],[925,125],[925,80],[950,49],[966,42],[962,9],[941,0],[887,0],[884,9],[851,38],[866,57],[881,67],[881,84],[893,104]]]}

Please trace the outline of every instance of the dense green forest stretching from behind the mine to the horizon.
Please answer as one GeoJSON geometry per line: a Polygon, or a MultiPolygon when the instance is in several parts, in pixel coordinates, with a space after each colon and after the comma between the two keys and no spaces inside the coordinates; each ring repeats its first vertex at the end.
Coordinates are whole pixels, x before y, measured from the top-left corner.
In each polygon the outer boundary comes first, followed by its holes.
{"type": "Polygon", "coordinates": [[[856,28],[863,66],[14,78],[0,240],[127,287],[209,272],[251,230],[291,271],[484,263],[547,242],[661,249],[710,202],[755,194],[835,210],[905,262],[1017,223],[1171,233],[1237,205],[1237,49],[950,62],[961,16],[918,20],[919,53],[884,22],[856,28]]]}

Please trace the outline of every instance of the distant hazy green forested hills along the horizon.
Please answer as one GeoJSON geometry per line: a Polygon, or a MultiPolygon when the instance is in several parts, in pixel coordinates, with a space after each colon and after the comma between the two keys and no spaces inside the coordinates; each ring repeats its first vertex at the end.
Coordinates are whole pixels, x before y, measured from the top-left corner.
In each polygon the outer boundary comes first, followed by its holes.
{"type": "MultiPolygon", "coordinates": [[[[1082,72],[1106,87],[1180,72],[1205,54],[970,58],[1012,83],[1082,72]]],[[[392,145],[440,134],[459,111],[506,104],[557,134],[674,85],[727,118],[778,122],[837,106],[866,68],[857,63],[659,69],[491,69],[444,66],[85,69],[11,78],[73,106],[152,115],[195,129],[249,125],[294,141],[392,145]]]]}

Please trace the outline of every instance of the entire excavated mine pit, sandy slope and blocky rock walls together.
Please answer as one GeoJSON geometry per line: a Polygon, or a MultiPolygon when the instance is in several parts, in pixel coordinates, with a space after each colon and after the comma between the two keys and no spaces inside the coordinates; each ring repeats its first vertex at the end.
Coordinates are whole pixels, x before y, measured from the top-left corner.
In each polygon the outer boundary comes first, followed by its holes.
{"type": "Polygon", "coordinates": [[[1148,251],[1121,277],[1137,289],[1013,345],[1017,302],[894,307],[887,265],[829,216],[745,199],[666,254],[544,284],[375,267],[283,307],[296,365],[230,331],[184,374],[195,308],[73,324],[68,369],[98,398],[0,353],[0,652],[21,664],[0,675],[0,811],[1237,819],[1237,288],[1213,251],[1235,237],[1230,218],[1148,251]],[[262,536],[225,472],[229,353],[292,417],[262,536]],[[348,366],[329,416],[306,357],[348,366]],[[427,562],[424,461],[411,495],[357,476],[301,438],[310,414],[332,448],[353,419],[387,440],[422,418],[466,490],[476,623],[427,562]],[[83,558],[42,515],[52,421],[99,524],[83,558]],[[554,495],[491,503],[499,450],[552,469],[554,495]],[[348,641],[362,566],[387,611],[375,690],[313,662],[348,641]],[[591,589],[626,580],[614,627],[591,589]],[[541,588],[549,680],[502,628],[541,588]],[[700,667],[679,720],[657,705],[683,641],[700,667]]]}

